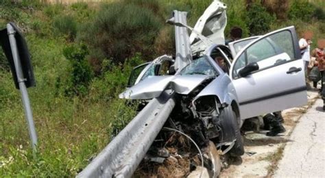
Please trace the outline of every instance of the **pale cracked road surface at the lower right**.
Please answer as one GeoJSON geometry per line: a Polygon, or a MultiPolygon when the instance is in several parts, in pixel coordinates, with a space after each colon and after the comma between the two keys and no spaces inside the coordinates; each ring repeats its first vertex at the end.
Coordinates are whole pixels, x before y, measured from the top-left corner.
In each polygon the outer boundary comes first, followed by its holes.
{"type": "Polygon", "coordinates": [[[282,160],[274,177],[325,177],[325,112],[323,101],[317,99],[313,107],[287,142],[282,160]]]}

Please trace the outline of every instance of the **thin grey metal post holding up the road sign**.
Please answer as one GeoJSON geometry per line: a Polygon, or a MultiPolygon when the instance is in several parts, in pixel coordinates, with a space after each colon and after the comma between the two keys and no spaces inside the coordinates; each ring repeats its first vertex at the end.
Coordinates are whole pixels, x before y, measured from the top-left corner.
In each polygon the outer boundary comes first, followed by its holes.
{"type": "Polygon", "coordinates": [[[16,31],[14,31],[14,28],[10,24],[7,24],[7,30],[8,30],[8,36],[10,41],[10,47],[12,50],[12,58],[14,59],[14,68],[16,69],[16,75],[19,82],[19,89],[21,90],[21,99],[23,101],[23,106],[25,109],[25,116],[28,125],[29,137],[31,139],[33,152],[36,153],[37,136],[36,136],[36,130],[34,126],[32,109],[29,103],[27,88],[25,86],[26,79],[23,76],[23,71],[21,68],[21,60],[19,59],[19,53],[16,44],[16,38],[14,38],[14,34],[16,33],[16,31]]]}

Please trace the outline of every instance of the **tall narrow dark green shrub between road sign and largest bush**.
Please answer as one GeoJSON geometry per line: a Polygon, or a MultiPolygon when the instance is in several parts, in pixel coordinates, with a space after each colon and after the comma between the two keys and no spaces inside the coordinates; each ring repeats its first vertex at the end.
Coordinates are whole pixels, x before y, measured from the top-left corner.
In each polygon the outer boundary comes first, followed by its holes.
{"type": "Polygon", "coordinates": [[[68,96],[84,96],[88,94],[88,86],[93,78],[91,68],[85,60],[88,49],[85,44],[72,44],[63,50],[63,55],[71,63],[70,84],[67,86],[68,96]]]}

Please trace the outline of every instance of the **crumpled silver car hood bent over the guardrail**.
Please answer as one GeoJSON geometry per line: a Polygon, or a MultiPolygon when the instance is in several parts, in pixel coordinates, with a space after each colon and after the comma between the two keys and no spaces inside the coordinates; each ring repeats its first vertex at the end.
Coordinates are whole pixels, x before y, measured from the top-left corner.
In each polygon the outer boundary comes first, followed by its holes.
{"type": "Polygon", "coordinates": [[[178,94],[189,94],[202,84],[210,75],[172,75],[149,77],[139,84],[128,88],[121,94],[121,99],[153,99],[165,90],[173,90],[178,94]]]}

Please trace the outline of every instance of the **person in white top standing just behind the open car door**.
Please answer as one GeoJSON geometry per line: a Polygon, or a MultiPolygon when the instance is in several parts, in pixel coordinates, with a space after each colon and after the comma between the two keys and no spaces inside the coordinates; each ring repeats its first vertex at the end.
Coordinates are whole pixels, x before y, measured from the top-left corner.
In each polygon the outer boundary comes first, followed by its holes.
{"type": "Polygon", "coordinates": [[[302,60],[304,61],[304,72],[306,74],[308,73],[307,66],[309,65],[309,60],[311,58],[310,55],[311,38],[313,38],[313,32],[304,31],[304,33],[302,34],[302,38],[300,38],[299,40],[299,47],[302,53],[302,60]]]}

